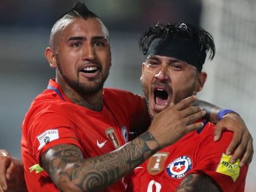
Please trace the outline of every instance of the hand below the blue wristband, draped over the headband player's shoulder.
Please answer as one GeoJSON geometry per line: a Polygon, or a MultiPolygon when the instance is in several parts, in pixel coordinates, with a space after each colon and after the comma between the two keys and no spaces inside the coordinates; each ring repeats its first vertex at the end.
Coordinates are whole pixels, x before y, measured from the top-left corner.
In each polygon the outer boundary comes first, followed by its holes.
{"type": "Polygon", "coordinates": [[[252,145],[252,136],[247,129],[244,120],[234,113],[228,113],[224,115],[217,124],[214,131],[214,141],[218,141],[221,138],[223,131],[233,131],[233,140],[229,144],[226,155],[231,155],[231,163],[236,162],[237,159],[242,157],[240,167],[243,167],[245,163],[250,164],[252,156],[254,154],[254,148],[252,145]]]}

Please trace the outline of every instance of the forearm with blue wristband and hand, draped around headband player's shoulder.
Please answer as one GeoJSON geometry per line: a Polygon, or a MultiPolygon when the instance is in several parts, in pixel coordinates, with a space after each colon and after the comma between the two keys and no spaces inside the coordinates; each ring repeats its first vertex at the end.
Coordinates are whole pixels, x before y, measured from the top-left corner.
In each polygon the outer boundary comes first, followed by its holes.
{"type": "Polygon", "coordinates": [[[228,130],[234,132],[233,139],[226,149],[228,156],[233,154],[231,162],[234,163],[237,159],[241,159],[242,157],[240,162],[241,167],[243,167],[244,164],[250,164],[254,154],[254,148],[252,145],[252,136],[244,120],[235,112],[224,111],[220,107],[206,101],[197,100],[195,105],[202,106],[207,112],[205,119],[216,124],[214,141],[220,140],[223,131],[228,130]]]}

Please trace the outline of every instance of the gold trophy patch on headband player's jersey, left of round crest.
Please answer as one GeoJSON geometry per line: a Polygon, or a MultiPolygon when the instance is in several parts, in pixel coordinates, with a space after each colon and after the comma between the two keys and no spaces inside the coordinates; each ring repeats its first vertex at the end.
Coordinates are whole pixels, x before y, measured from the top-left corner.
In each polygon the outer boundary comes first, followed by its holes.
{"type": "Polygon", "coordinates": [[[155,175],[164,170],[164,163],[169,156],[169,152],[156,152],[148,160],[147,170],[151,175],[155,175]]]}

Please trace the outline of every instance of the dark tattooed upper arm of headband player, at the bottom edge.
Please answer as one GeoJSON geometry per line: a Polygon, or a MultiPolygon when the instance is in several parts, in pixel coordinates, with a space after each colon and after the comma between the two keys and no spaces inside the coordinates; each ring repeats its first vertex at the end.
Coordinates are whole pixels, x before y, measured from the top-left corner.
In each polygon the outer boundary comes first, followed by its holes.
{"type": "Polygon", "coordinates": [[[179,187],[177,192],[221,192],[220,186],[208,175],[202,174],[189,174],[185,177],[179,187]]]}

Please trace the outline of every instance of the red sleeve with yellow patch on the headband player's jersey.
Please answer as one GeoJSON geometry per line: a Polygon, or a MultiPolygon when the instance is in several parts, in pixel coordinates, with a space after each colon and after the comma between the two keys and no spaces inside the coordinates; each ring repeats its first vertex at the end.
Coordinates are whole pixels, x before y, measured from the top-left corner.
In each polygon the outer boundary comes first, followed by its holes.
{"type": "Polygon", "coordinates": [[[197,161],[190,173],[205,173],[222,188],[223,191],[244,191],[248,167],[232,165],[230,157],[225,157],[232,132],[224,132],[220,141],[213,141],[213,133],[203,137],[197,148],[197,161]],[[224,158],[225,157],[225,158],[224,158]]]}

